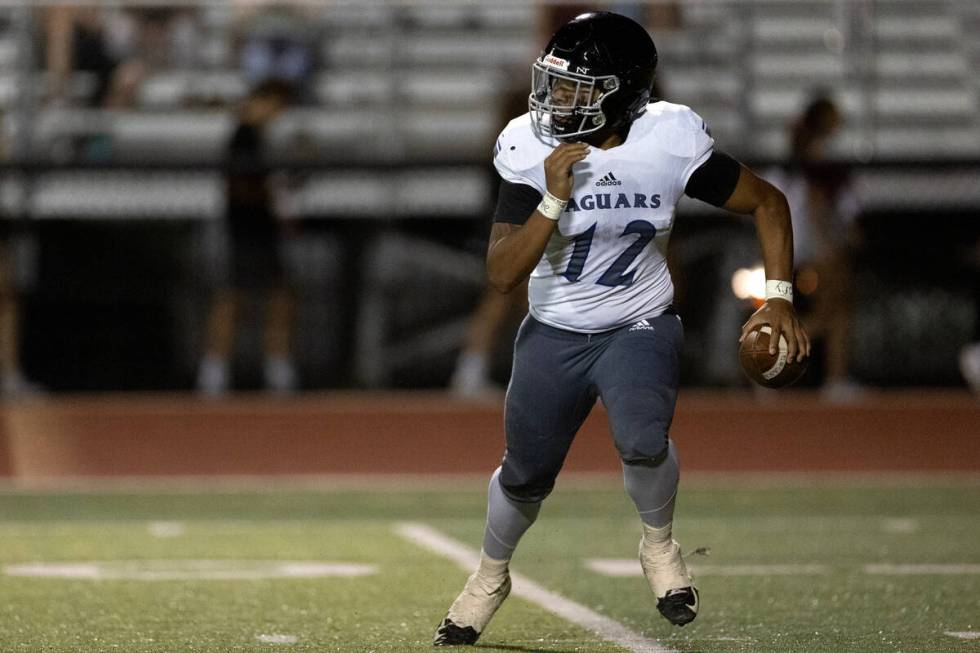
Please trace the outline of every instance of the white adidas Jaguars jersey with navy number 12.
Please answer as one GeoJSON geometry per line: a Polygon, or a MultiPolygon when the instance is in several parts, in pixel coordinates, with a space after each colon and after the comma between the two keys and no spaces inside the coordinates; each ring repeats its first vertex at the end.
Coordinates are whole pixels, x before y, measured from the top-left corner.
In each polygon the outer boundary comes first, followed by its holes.
{"type": "MultiPolygon", "coordinates": [[[[674,209],[713,146],[689,107],[655,102],[626,142],[593,147],[572,168],[568,206],[531,273],[531,315],[597,333],[663,313],[674,297],[665,258],[674,209]]],[[[504,180],[544,194],[544,160],[553,149],[535,137],[525,114],[501,132],[494,165],[504,180]]]]}

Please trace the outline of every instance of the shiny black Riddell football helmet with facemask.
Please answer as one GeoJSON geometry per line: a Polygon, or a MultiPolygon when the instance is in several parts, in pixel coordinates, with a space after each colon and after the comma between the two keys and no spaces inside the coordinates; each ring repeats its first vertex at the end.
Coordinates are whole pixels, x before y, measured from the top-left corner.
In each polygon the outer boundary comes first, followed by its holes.
{"type": "Polygon", "coordinates": [[[577,16],[531,66],[528,107],[539,138],[574,139],[628,125],[646,111],[657,48],[636,21],[608,11],[577,16]]]}

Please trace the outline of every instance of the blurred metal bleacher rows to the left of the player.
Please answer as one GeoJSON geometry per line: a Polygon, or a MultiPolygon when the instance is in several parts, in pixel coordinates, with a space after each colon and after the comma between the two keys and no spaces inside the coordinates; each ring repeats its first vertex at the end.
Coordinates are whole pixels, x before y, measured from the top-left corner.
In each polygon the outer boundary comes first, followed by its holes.
{"type": "MultiPolygon", "coordinates": [[[[534,16],[533,6],[524,4],[341,3],[324,8],[317,14],[324,65],[314,80],[314,103],[278,121],[272,131],[274,153],[294,162],[332,161],[335,166],[352,160],[374,166],[470,163],[463,187],[478,191],[472,202],[439,202],[399,186],[415,183],[418,174],[384,172],[375,174],[373,182],[362,180],[362,202],[357,206],[391,205],[402,216],[416,213],[416,208],[429,214],[446,205],[445,211],[459,214],[481,206],[486,194],[485,159],[498,128],[497,98],[508,87],[504,75],[512,66],[519,63],[524,74],[531,56],[534,16]],[[297,142],[304,145],[303,157],[296,156],[297,142]],[[368,187],[374,189],[373,198],[368,187]],[[392,197],[418,198],[421,203],[405,205],[392,197]]],[[[13,109],[27,78],[31,80],[28,92],[37,96],[36,110],[28,112],[31,158],[65,162],[81,157],[88,164],[129,162],[135,166],[217,163],[232,127],[232,107],[247,86],[236,69],[230,45],[232,20],[230,7],[202,8],[201,52],[195,57],[198,66],[154,71],[140,87],[138,106],[128,110],[91,110],[71,104],[45,107],[41,102],[46,93],[45,75],[29,72],[25,77],[24,71],[17,70],[16,37],[8,21],[8,29],[0,34],[0,105],[10,116],[6,128],[15,130],[24,122],[13,109]],[[218,108],[211,106],[215,104],[218,108]],[[96,156],[89,156],[89,151],[79,153],[77,143],[93,137],[101,145],[96,156]]],[[[79,90],[90,83],[84,74],[76,78],[79,90]]],[[[456,179],[467,171],[449,167],[454,169],[432,169],[425,174],[446,180],[450,173],[456,179]]],[[[143,174],[150,185],[159,177],[156,171],[143,174]]],[[[113,214],[119,211],[134,217],[175,211],[173,206],[154,201],[162,196],[134,196],[126,187],[116,189],[121,195],[115,198],[118,201],[111,200],[114,186],[103,183],[111,175],[98,171],[79,175],[73,177],[73,183],[87,176],[101,192],[108,193],[103,196],[113,214]],[[124,208],[127,199],[131,206],[124,208]]],[[[46,192],[66,197],[67,189],[57,190],[63,176],[56,175],[51,184],[43,185],[46,192]]],[[[350,176],[342,170],[316,175],[319,188],[300,189],[298,205],[313,216],[348,211],[349,193],[324,192],[322,182],[344,183],[350,176]]],[[[215,192],[219,188],[217,175],[199,174],[198,179],[208,179],[215,192]]],[[[198,205],[182,202],[176,210],[190,211],[186,217],[217,215],[214,202],[205,200],[204,194],[197,196],[198,205]]],[[[59,217],[89,214],[89,209],[70,202],[33,203],[33,208],[39,207],[66,212],[58,213],[59,217]]],[[[220,211],[220,204],[217,209],[220,211]]]]}

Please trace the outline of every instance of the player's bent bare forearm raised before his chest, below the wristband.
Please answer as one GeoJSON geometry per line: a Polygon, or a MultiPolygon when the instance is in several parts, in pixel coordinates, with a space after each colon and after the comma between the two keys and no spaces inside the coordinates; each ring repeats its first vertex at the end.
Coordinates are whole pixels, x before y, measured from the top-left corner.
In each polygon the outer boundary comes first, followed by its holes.
{"type": "Polygon", "coordinates": [[[556,224],[535,211],[522,227],[492,238],[487,250],[490,285],[507,293],[527,279],[541,260],[556,224]]]}

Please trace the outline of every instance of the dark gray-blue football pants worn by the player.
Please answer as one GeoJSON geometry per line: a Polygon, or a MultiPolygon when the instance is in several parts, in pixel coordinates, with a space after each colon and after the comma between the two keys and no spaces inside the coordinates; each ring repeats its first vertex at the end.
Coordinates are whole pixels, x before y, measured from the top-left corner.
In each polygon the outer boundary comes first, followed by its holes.
{"type": "Polygon", "coordinates": [[[528,316],[507,388],[507,450],[500,484],[513,501],[551,492],[576,432],[601,397],[624,463],[658,463],[677,400],[684,330],[673,312],[599,334],[528,316]]]}

